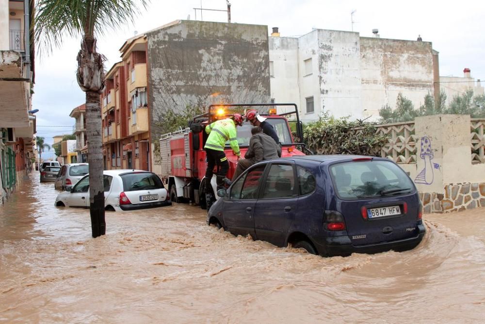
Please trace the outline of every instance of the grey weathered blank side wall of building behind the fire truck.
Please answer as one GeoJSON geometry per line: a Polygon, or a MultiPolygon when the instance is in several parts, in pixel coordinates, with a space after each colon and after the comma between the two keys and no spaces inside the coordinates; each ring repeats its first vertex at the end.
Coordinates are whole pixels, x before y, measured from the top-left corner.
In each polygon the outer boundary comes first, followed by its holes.
{"type": "Polygon", "coordinates": [[[167,110],[270,102],[268,28],[178,20],[146,33],[152,138],[167,110]]]}

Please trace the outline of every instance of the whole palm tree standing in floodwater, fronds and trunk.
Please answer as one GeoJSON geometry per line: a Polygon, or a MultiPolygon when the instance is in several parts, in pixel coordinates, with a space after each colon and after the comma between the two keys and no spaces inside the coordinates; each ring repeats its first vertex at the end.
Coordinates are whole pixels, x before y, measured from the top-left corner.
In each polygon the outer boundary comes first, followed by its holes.
{"type": "Polygon", "coordinates": [[[34,19],[35,41],[52,51],[65,36],[82,35],[77,80],[86,93],[86,135],[89,163],[91,229],[96,238],[106,233],[104,217],[103,153],[100,93],[105,86],[104,55],[96,51],[96,36],[133,21],[149,0],[38,0],[34,19]]]}

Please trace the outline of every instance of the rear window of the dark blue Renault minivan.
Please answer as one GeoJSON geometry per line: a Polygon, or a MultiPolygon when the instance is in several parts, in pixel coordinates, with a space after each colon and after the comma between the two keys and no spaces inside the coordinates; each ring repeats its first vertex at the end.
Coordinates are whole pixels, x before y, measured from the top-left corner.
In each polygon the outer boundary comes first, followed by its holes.
{"type": "Polygon", "coordinates": [[[396,196],[415,190],[403,169],[390,161],[338,163],[330,166],[330,174],[343,200],[396,196]]]}

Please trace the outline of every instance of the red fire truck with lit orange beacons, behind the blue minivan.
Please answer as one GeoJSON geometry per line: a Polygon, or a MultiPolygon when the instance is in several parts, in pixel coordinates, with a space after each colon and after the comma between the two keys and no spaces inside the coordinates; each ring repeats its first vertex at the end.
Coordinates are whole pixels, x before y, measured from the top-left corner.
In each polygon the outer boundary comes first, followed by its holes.
{"type": "MultiPolygon", "coordinates": [[[[204,177],[207,169],[204,145],[209,135],[206,134],[205,127],[218,119],[231,117],[234,113],[245,114],[250,109],[255,109],[261,116],[266,117],[266,121],[275,128],[281,143],[282,157],[305,155],[303,150],[309,152],[304,143],[295,143],[291,134],[290,124],[294,123],[293,129],[300,140],[303,139],[302,123],[298,116],[298,108],[294,103],[210,105],[207,113],[195,116],[193,120],[189,121],[188,128],[164,134],[160,138],[161,175],[168,187],[172,202],[193,203],[202,209],[207,208],[205,181],[209,180],[204,177]],[[276,107],[282,107],[280,109],[285,111],[276,114],[276,107]],[[292,116],[291,119],[294,120],[288,120],[288,116],[292,116]]],[[[249,146],[251,128],[249,121],[244,121],[242,126],[236,127],[242,157],[249,146]]],[[[229,161],[227,177],[231,179],[236,170],[238,157],[228,142],[225,153],[229,161]]],[[[214,175],[210,179],[210,183],[213,190],[212,196],[219,199],[214,194],[217,187],[215,173],[214,168],[214,175]]]]}

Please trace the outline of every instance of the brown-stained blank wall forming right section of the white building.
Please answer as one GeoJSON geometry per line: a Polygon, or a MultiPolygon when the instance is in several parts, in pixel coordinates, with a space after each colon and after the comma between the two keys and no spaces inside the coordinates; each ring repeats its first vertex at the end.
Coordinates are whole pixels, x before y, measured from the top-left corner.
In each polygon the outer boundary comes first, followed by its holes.
{"type": "Polygon", "coordinates": [[[360,37],[362,109],[379,116],[379,109],[396,106],[399,93],[415,108],[434,94],[431,42],[360,37]]]}

